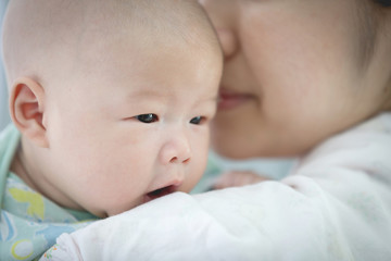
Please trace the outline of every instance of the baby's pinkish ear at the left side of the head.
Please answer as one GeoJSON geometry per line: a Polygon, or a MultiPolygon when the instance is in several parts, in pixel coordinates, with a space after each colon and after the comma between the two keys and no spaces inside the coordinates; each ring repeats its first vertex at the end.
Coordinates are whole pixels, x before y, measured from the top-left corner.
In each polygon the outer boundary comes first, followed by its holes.
{"type": "Polygon", "coordinates": [[[18,130],[39,147],[48,148],[43,124],[45,91],[36,80],[17,78],[10,94],[11,119],[18,130]]]}

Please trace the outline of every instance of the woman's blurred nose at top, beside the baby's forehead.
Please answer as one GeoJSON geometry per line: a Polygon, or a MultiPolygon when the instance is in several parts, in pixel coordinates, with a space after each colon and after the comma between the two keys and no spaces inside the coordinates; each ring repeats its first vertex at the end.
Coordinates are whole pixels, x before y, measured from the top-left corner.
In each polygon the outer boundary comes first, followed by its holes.
{"type": "Polygon", "coordinates": [[[239,45],[234,28],[238,11],[235,4],[227,4],[226,1],[227,0],[199,0],[216,29],[224,57],[227,60],[236,53],[239,45]]]}

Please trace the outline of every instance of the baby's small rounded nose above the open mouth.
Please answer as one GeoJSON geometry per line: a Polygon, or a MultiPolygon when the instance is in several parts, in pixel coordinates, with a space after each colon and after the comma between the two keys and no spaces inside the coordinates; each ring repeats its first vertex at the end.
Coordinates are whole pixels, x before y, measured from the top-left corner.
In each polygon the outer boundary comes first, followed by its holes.
{"type": "Polygon", "coordinates": [[[191,147],[185,135],[168,139],[160,152],[162,164],[187,164],[191,160],[191,147]]]}

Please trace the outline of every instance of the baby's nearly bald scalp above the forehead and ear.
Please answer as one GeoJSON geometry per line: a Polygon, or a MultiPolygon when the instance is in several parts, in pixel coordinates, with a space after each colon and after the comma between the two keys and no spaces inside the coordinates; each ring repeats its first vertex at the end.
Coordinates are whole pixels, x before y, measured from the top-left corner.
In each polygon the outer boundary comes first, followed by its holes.
{"type": "Polygon", "coordinates": [[[37,82],[66,77],[79,59],[97,59],[97,50],[124,34],[141,47],[159,49],[180,40],[218,48],[194,0],[13,0],[3,27],[9,86],[20,76],[37,82]]]}

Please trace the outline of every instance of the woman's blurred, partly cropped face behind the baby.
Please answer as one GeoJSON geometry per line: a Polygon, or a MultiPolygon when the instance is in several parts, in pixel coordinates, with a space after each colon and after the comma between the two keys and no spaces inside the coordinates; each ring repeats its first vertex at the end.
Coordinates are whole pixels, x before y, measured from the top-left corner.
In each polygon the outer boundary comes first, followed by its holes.
{"type": "Polygon", "coordinates": [[[225,52],[217,152],[298,156],[383,104],[390,48],[378,45],[364,64],[357,1],[200,2],[225,52]]]}

